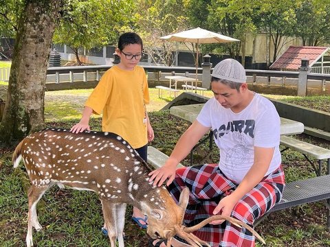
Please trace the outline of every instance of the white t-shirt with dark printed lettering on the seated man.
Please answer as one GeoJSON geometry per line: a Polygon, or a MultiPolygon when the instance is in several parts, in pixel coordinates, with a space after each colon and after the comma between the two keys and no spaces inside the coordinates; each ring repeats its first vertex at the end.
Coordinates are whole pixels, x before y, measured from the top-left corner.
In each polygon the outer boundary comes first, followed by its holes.
{"type": "Polygon", "coordinates": [[[266,176],[281,165],[281,120],[274,104],[258,93],[240,113],[224,108],[212,97],[197,121],[212,129],[220,150],[219,168],[236,183],[241,183],[254,163],[254,146],[275,148],[266,176]]]}

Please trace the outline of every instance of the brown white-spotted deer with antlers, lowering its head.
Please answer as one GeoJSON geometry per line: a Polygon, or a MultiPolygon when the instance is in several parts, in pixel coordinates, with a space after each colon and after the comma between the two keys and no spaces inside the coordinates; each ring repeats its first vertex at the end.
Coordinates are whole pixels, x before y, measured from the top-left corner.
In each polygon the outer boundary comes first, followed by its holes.
{"type": "Polygon", "coordinates": [[[131,145],[111,132],[74,134],[65,129],[47,128],[30,134],[17,145],[12,158],[14,167],[18,167],[21,159],[32,184],[28,191],[28,247],[33,246],[32,226],[36,231],[42,228],[36,204],[52,185],[98,193],[111,247],[115,247],[117,239],[118,246],[124,246],[126,204],[140,209],[148,217],[148,235],[153,239],[168,239],[168,246],[174,235],[183,237],[191,246],[209,246],[192,232],[219,218],[248,228],[260,237],[247,224],[221,215],[190,228],[182,226],[188,188],[183,189],[176,204],[165,187],[155,187],[148,181],[151,168],[131,145]]]}

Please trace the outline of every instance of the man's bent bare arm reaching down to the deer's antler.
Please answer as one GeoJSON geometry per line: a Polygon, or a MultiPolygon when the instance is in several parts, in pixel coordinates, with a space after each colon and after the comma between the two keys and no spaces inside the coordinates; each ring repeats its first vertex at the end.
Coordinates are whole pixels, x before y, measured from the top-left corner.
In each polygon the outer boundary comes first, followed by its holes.
{"type": "MultiPolygon", "coordinates": [[[[245,175],[239,186],[229,195],[225,196],[217,207],[214,209],[213,214],[217,215],[220,211],[221,215],[230,216],[235,204],[251,191],[260,181],[264,178],[272,157],[274,154],[274,148],[259,148],[254,147],[254,164],[250,168],[249,172],[245,175]]],[[[223,220],[217,220],[212,224],[221,224],[223,220]]]]}

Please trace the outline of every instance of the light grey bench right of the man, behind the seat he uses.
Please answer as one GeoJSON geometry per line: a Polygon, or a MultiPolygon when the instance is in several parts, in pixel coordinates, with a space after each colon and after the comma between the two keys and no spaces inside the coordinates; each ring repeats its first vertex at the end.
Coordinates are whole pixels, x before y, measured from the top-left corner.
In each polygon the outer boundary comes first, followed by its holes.
{"type": "Polygon", "coordinates": [[[307,161],[309,161],[309,163],[313,166],[318,176],[320,176],[322,172],[323,160],[327,160],[327,167],[330,168],[330,150],[327,150],[326,148],[321,148],[311,143],[306,143],[305,141],[300,141],[287,136],[281,136],[281,145],[285,145],[285,147],[287,147],[284,150],[281,150],[281,152],[291,148],[292,150],[302,153],[307,161]],[[318,160],[318,169],[308,156],[314,157],[318,160]]]}

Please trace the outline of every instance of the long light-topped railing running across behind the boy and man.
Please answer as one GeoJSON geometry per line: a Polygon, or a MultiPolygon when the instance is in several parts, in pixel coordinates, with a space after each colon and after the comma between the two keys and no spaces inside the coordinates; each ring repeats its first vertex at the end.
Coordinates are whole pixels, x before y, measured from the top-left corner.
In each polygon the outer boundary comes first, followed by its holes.
{"type": "MultiPolygon", "coordinates": [[[[99,81],[102,74],[111,68],[111,65],[93,65],[83,67],[50,67],[47,69],[46,83],[61,82],[90,82],[99,81]]],[[[142,66],[148,74],[148,80],[161,81],[166,80],[166,75],[182,75],[195,78],[196,69],[194,67],[163,67],[163,66],[142,66]]],[[[201,80],[203,69],[197,69],[197,78],[201,80]]],[[[10,69],[2,68],[0,70],[0,76],[3,79],[9,80],[10,69]]],[[[266,71],[266,70],[254,70],[246,69],[248,77],[248,83],[251,84],[265,84],[267,86],[297,86],[298,84],[298,71],[266,71]]],[[[330,73],[309,73],[307,75],[308,86],[325,91],[330,84],[330,73]]]]}

